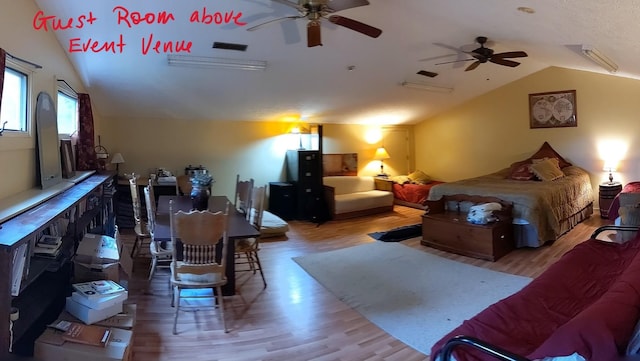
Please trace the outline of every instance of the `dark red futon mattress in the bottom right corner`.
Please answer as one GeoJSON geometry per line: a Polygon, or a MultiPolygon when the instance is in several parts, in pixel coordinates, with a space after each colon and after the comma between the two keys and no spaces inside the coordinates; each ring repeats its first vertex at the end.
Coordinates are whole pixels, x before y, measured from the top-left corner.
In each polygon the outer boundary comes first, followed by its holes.
{"type": "MultiPolygon", "coordinates": [[[[617,360],[640,317],[639,250],[638,237],[577,245],[521,291],[445,335],[431,355],[453,336],[466,335],[529,359],[577,352],[587,360],[617,360]]],[[[455,357],[494,360],[463,348],[455,357]]]]}

